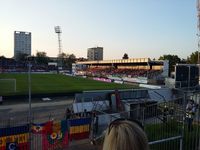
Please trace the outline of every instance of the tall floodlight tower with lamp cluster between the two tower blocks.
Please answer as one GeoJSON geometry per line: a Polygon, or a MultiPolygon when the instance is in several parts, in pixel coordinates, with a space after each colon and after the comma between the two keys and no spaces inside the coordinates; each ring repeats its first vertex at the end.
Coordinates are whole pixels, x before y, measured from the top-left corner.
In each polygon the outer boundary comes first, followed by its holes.
{"type": "Polygon", "coordinates": [[[60,26],[55,26],[55,33],[58,34],[58,68],[62,69],[62,45],[61,45],[61,28],[60,26]]]}

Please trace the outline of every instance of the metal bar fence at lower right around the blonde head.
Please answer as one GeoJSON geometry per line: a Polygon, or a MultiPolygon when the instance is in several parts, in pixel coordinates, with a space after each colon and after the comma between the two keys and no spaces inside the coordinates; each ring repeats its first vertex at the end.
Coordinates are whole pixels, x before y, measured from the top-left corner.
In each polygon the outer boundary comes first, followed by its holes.
{"type": "Polygon", "coordinates": [[[141,103],[130,111],[115,114],[99,111],[101,124],[98,129],[92,131],[92,137],[97,143],[102,144],[105,130],[110,122],[117,118],[137,119],[144,126],[151,150],[199,150],[199,105],[195,104],[195,107],[190,128],[183,99],[151,105],[141,103]]]}

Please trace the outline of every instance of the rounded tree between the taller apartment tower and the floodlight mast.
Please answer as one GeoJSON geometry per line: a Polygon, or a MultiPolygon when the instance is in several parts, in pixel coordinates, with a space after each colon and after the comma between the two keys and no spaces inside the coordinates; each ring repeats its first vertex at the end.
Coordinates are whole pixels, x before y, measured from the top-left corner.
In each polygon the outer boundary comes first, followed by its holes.
{"type": "Polygon", "coordinates": [[[47,65],[49,62],[49,57],[47,57],[46,52],[39,52],[36,53],[36,63],[39,65],[47,65]]]}

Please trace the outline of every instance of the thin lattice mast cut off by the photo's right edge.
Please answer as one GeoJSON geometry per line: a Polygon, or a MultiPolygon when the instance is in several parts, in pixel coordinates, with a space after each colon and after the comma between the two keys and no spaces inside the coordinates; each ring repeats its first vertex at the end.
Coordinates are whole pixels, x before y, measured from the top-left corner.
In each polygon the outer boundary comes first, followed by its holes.
{"type": "Polygon", "coordinates": [[[198,64],[199,62],[199,50],[200,50],[200,0],[197,0],[197,37],[198,37],[198,64]]]}

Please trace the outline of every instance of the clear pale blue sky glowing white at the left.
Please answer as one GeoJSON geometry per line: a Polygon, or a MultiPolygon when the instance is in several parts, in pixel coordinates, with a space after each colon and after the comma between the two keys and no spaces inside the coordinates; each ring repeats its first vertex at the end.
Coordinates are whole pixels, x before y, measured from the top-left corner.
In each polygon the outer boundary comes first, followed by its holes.
{"type": "Polygon", "coordinates": [[[14,31],[32,32],[32,54],[57,56],[62,49],[86,57],[104,47],[104,59],[186,58],[197,50],[196,0],[1,0],[0,55],[14,54],[14,31]]]}

